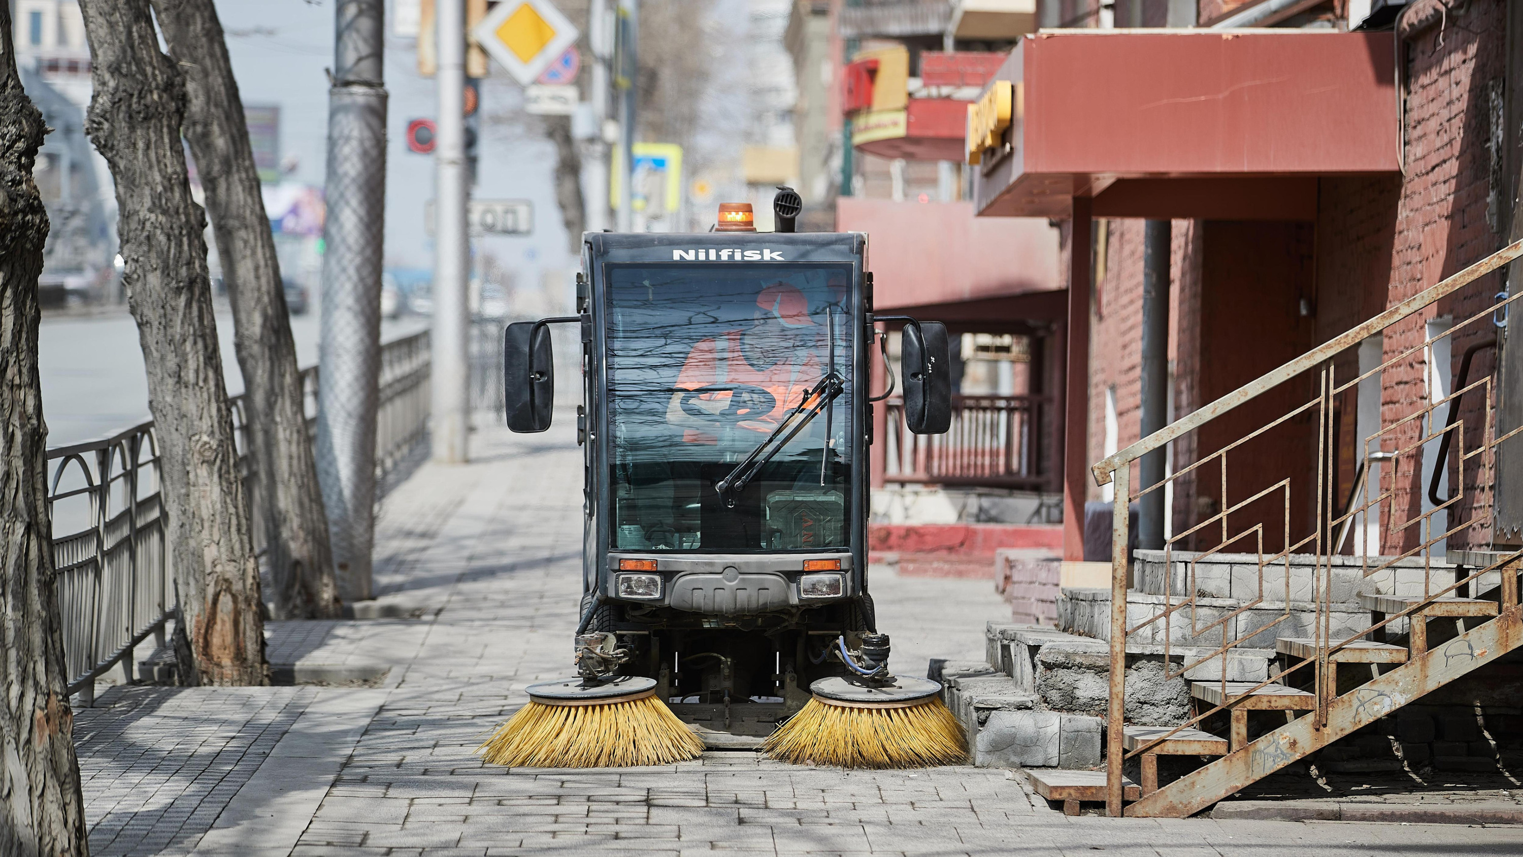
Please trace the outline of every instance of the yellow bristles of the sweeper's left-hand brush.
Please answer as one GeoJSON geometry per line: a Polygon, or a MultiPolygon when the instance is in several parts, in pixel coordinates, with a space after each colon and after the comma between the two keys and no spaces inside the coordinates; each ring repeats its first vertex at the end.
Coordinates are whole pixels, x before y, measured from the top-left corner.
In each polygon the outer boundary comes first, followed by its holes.
{"type": "Polygon", "coordinates": [[[510,767],[631,767],[694,760],[704,741],[653,696],[608,705],[530,700],[477,752],[510,767]]]}

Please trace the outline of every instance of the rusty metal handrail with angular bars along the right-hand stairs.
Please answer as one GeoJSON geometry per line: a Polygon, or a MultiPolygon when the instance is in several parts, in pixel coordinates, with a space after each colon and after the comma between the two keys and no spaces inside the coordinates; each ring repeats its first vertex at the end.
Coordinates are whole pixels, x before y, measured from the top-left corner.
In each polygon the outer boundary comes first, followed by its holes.
{"type": "MultiPolygon", "coordinates": [[[[1415,413],[1392,420],[1389,425],[1383,420],[1381,426],[1369,437],[1354,437],[1352,440],[1360,443],[1360,472],[1357,479],[1360,481],[1360,490],[1365,495],[1363,502],[1359,502],[1359,496],[1351,496],[1348,502],[1339,502],[1334,498],[1334,483],[1336,483],[1336,467],[1333,464],[1336,458],[1336,443],[1339,441],[1339,434],[1334,432],[1334,400],[1349,391],[1357,390],[1357,385],[1371,378],[1380,378],[1380,373],[1390,370],[1398,364],[1406,364],[1413,359],[1429,359],[1419,356],[1426,350],[1432,349],[1438,339],[1456,336],[1462,329],[1468,326],[1489,326],[1491,315],[1497,307],[1485,307],[1468,318],[1456,321],[1447,330],[1426,338],[1422,342],[1415,346],[1404,346],[1398,353],[1387,352],[1380,365],[1369,371],[1357,371],[1352,379],[1337,378],[1334,358],[1348,349],[1355,347],[1368,336],[1383,332],[1390,326],[1412,318],[1424,307],[1433,304],[1444,297],[1454,294],[1458,289],[1477,279],[1497,271],[1503,265],[1523,256],[1523,241],[1508,245],[1503,250],[1482,259],[1480,262],[1470,265],[1468,268],[1459,271],[1458,274],[1439,282],[1438,285],[1392,306],[1390,309],[1375,315],[1369,321],[1355,326],[1349,332],[1323,342],[1322,346],[1301,355],[1299,358],[1282,364],[1281,367],[1264,373],[1258,379],[1234,390],[1232,393],[1211,402],[1209,405],[1194,411],[1193,414],[1176,420],[1174,423],[1159,429],[1142,440],[1121,449],[1115,455],[1094,464],[1092,470],[1095,481],[1098,484],[1113,483],[1115,486],[1115,502],[1113,502],[1113,521],[1112,521],[1112,586],[1110,586],[1110,629],[1109,629],[1109,648],[1110,648],[1110,693],[1109,693],[1109,711],[1107,711],[1107,810],[1115,814],[1121,811],[1122,807],[1122,761],[1136,755],[1150,752],[1153,747],[1168,740],[1171,735],[1180,729],[1194,726],[1206,717],[1211,717],[1226,708],[1231,708],[1243,697],[1256,693],[1260,688],[1276,682],[1298,670],[1311,670],[1313,674],[1313,690],[1316,696],[1314,717],[1317,723],[1327,722],[1328,708],[1331,699],[1337,696],[1337,688],[1330,687],[1327,676],[1333,674],[1330,671],[1330,658],[1333,653],[1345,648],[1351,642],[1362,639],[1365,635],[1380,635],[1383,629],[1390,626],[1397,620],[1403,620],[1422,610],[1433,600],[1450,595],[1456,591],[1467,591],[1471,583],[1479,581],[1483,575],[1500,572],[1503,568],[1502,580],[1506,581],[1509,574],[1514,574],[1518,560],[1517,553],[1499,554],[1496,562],[1482,569],[1464,569],[1454,571],[1451,585],[1445,585],[1442,580],[1433,581],[1433,559],[1432,548],[1439,542],[1454,536],[1465,527],[1473,527],[1483,524],[1482,518],[1489,515],[1491,505],[1482,502],[1477,508],[1480,511],[1471,510],[1471,515],[1465,521],[1450,521],[1445,518],[1444,525],[1438,525],[1435,515],[1444,513],[1447,516],[1456,516],[1461,511],[1461,498],[1464,496],[1464,487],[1459,493],[1451,496],[1447,502],[1436,505],[1433,508],[1412,511],[1406,516],[1398,515],[1395,505],[1395,490],[1383,489],[1380,481],[1368,478],[1368,467],[1372,461],[1390,461],[1392,467],[1398,467],[1398,461],[1403,457],[1419,457],[1422,455],[1422,448],[1436,441],[1439,435],[1453,437],[1454,443],[1459,444],[1458,452],[1458,470],[1461,481],[1467,479],[1467,466],[1482,472],[1474,478],[1474,484],[1486,486],[1485,470],[1494,467],[1497,446],[1523,432],[1523,428],[1512,429],[1508,432],[1500,432],[1493,425],[1493,414],[1496,411],[1496,391],[1494,378],[1488,376],[1474,382],[1467,382],[1459,390],[1450,390],[1444,396],[1430,394],[1430,400],[1426,406],[1419,406],[1415,413]],[[1215,451],[1200,451],[1200,455],[1194,455],[1194,461],[1177,469],[1176,472],[1165,476],[1162,483],[1153,486],[1132,487],[1132,469],[1130,464],[1151,452],[1154,449],[1164,448],[1170,441],[1185,437],[1186,434],[1202,428],[1205,423],[1226,414],[1228,411],[1244,405],[1246,402],[1278,388],[1279,385],[1307,374],[1320,367],[1320,378],[1317,379],[1313,397],[1308,402],[1290,405],[1279,417],[1270,419],[1267,423],[1260,425],[1260,428],[1237,437],[1220,446],[1215,451]],[[1480,391],[1480,419],[1474,420],[1482,432],[1480,443],[1473,448],[1465,448],[1464,435],[1464,420],[1458,423],[1445,425],[1442,429],[1433,422],[1433,414],[1438,408],[1444,405],[1454,405],[1468,391],[1480,391]],[[1316,429],[1317,440],[1314,444],[1316,454],[1316,473],[1314,478],[1307,479],[1302,484],[1304,476],[1295,472],[1279,473],[1272,472],[1270,475],[1260,473],[1260,479],[1270,479],[1273,484],[1266,487],[1249,489],[1249,496],[1241,496],[1238,499],[1229,499],[1229,479],[1228,479],[1228,457],[1243,455],[1247,443],[1255,438],[1263,437],[1266,432],[1276,429],[1288,429],[1295,422],[1299,420],[1302,425],[1316,429]],[[1394,451],[1383,451],[1383,441],[1392,438],[1397,432],[1404,432],[1404,435],[1415,434],[1416,440],[1410,437],[1395,437],[1394,451]],[[1374,448],[1374,449],[1372,449],[1374,448]],[[1164,490],[1165,486],[1174,484],[1177,479],[1186,478],[1193,483],[1196,479],[1205,478],[1208,473],[1208,466],[1217,466],[1220,469],[1220,486],[1212,484],[1212,489],[1220,490],[1220,508],[1203,515],[1200,521],[1194,525],[1185,524],[1179,531],[1168,536],[1164,545],[1164,592],[1162,603],[1148,607],[1150,615],[1144,616],[1138,624],[1129,624],[1127,618],[1127,594],[1129,594],[1129,577],[1130,577],[1130,539],[1129,539],[1129,505],[1133,499],[1141,495],[1164,490]],[[1275,481],[1278,479],[1278,481],[1275,481]],[[1307,492],[1314,487],[1316,495],[1313,498],[1304,498],[1311,501],[1311,507],[1307,511],[1314,511],[1314,527],[1310,534],[1304,537],[1293,537],[1292,534],[1292,498],[1299,495],[1299,492],[1307,492]],[[1295,492],[1295,495],[1293,495],[1295,492]],[[1369,496],[1374,493],[1375,496],[1369,496]],[[1255,504],[1275,504],[1270,511],[1253,511],[1255,504]],[[1279,504],[1284,504],[1284,510],[1279,511],[1279,504]],[[1421,583],[1422,591],[1419,595],[1409,594],[1407,597],[1416,595],[1404,610],[1398,613],[1389,613],[1383,620],[1371,620],[1369,627],[1343,627],[1336,626],[1333,621],[1333,586],[1334,586],[1334,563],[1333,554],[1340,548],[1342,530],[1346,530],[1348,524],[1355,518],[1372,518],[1384,511],[1383,504],[1390,504],[1390,521],[1387,530],[1390,533],[1406,531],[1416,527],[1418,546],[1407,548],[1401,551],[1400,556],[1369,556],[1369,550],[1363,551],[1363,560],[1359,563],[1360,580],[1378,572],[1387,572],[1387,569],[1395,569],[1397,563],[1422,554],[1421,583]],[[1267,515],[1267,518],[1258,518],[1258,515],[1267,515]],[[1281,518],[1282,515],[1282,518],[1281,518]],[[1235,519],[1235,530],[1229,527],[1228,519],[1232,516],[1235,519]],[[1247,524],[1244,524],[1247,519],[1247,524]],[[1220,534],[1217,534],[1217,527],[1220,527],[1220,534]],[[1276,546],[1269,542],[1269,536],[1279,534],[1279,528],[1284,528],[1282,546],[1276,546]],[[1442,530],[1442,531],[1441,531],[1442,530]],[[1179,562],[1174,557],[1182,545],[1196,542],[1200,545],[1202,539],[1215,539],[1215,546],[1209,546],[1205,553],[1196,554],[1189,559],[1189,577],[1179,586],[1183,592],[1174,592],[1174,563],[1179,562]],[[1339,543],[1334,543],[1337,539],[1339,543]],[[1186,542],[1189,540],[1189,542],[1186,542]],[[1258,545],[1258,591],[1255,594],[1246,592],[1244,597],[1238,598],[1234,588],[1232,598],[1238,601],[1235,607],[1202,607],[1200,601],[1200,586],[1197,581],[1199,563],[1202,559],[1209,557],[1214,553],[1229,548],[1229,545],[1247,542],[1249,545],[1258,545]],[[1310,569],[1310,600],[1305,601],[1314,607],[1314,627],[1310,633],[1305,630],[1299,632],[1305,636],[1313,638],[1316,644],[1316,656],[1304,659],[1290,659],[1284,668],[1270,670],[1270,676],[1263,682],[1249,682],[1250,688],[1237,688],[1231,694],[1228,693],[1228,668],[1226,656],[1238,645],[1243,645],[1247,639],[1261,635],[1267,629],[1281,626],[1292,618],[1292,557],[1307,556],[1311,557],[1314,566],[1302,565],[1299,568],[1310,569]],[[1275,565],[1276,572],[1279,563],[1284,563],[1284,595],[1282,604],[1273,598],[1266,598],[1264,588],[1264,572],[1275,565]],[[1467,571],[1470,574],[1467,574],[1467,571]],[[1234,620],[1244,615],[1250,609],[1267,609],[1269,621],[1263,624],[1250,623],[1246,629],[1237,626],[1234,620]],[[1205,613],[1202,613],[1205,609],[1205,613]],[[1212,613],[1215,618],[1212,618],[1212,613]],[[1275,615],[1281,613],[1281,615],[1275,615]],[[1177,627],[1171,626],[1174,616],[1183,616],[1177,623],[1177,627]],[[1132,750],[1122,752],[1122,737],[1125,723],[1125,644],[1129,635],[1142,632],[1144,629],[1151,629],[1150,633],[1162,636],[1164,648],[1164,677],[1176,679],[1183,676],[1188,670],[1200,667],[1209,661],[1220,659],[1220,699],[1218,705],[1202,705],[1185,723],[1165,731],[1162,735],[1150,737],[1142,746],[1132,750]],[[1176,635],[1177,632],[1177,635],[1176,635]],[[1176,636],[1179,638],[1176,641],[1176,636]],[[1217,639],[1220,638],[1220,639],[1217,639]],[[1171,656],[1171,647],[1193,645],[1189,641],[1202,641],[1205,645],[1202,648],[1211,650],[1205,656],[1186,655],[1180,665],[1174,665],[1171,656]],[[1241,693],[1238,693],[1241,691],[1241,693]]],[[[1523,292],[1517,295],[1506,297],[1499,306],[1509,304],[1523,297],[1523,292]]],[[[1445,368],[1447,371],[1447,368],[1445,368]]],[[[1447,466],[1447,463],[1441,463],[1447,466]]],[[[1191,489],[1194,490],[1194,489],[1191,489]]],[[[1305,562],[1305,560],[1302,560],[1305,562]]],[[[1448,566],[1445,566],[1448,569],[1448,566]]],[[[1392,585],[1397,581],[1400,571],[1390,571],[1392,585]]],[[[1445,571],[1445,575],[1448,571],[1445,571]]],[[[1157,581],[1154,581],[1157,583],[1157,581]]],[[[1234,585],[1235,586],[1235,585],[1234,585]]],[[[1508,585],[1503,583],[1503,592],[1508,591],[1508,585]]],[[[1273,597],[1281,597],[1272,594],[1273,597]]],[[[1302,597],[1304,598],[1304,597],[1302,597]]],[[[1346,595],[1345,595],[1346,598],[1346,595]]],[[[1308,607],[1301,607],[1308,609],[1308,607]]],[[[1345,621],[1346,624],[1346,621],[1345,621]]],[[[1199,645],[1199,644],[1194,644],[1199,645]]],[[[1212,679],[1215,683],[1217,679],[1212,679]]],[[[1234,737],[1232,749],[1238,749],[1237,737],[1234,737]]]]}

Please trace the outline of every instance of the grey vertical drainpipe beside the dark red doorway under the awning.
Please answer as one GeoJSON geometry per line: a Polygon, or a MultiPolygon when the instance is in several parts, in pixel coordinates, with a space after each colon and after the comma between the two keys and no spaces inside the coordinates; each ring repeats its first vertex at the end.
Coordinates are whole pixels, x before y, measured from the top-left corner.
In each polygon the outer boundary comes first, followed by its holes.
{"type": "MultiPolygon", "coordinates": [[[[1168,422],[1168,256],[1170,222],[1142,227],[1142,437],[1168,422]]],[[[1142,457],[1138,490],[1164,481],[1165,448],[1142,457]]],[[[1142,495],[1138,546],[1164,548],[1164,489],[1142,495]]]]}

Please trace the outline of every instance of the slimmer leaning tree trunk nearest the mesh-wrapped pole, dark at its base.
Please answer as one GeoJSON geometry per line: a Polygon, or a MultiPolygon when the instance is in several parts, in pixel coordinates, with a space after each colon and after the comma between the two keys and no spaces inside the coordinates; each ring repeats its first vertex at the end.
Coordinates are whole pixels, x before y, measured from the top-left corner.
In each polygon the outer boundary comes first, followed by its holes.
{"type": "Polygon", "coordinates": [[[186,139],[233,303],[233,344],[248,394],[276,618],[338,616],[327,516],[302,406],[302,378],[280,262],[244,122],[244,102],[212,0],[152,0],[169,53],[186,76],[186,139]]]}

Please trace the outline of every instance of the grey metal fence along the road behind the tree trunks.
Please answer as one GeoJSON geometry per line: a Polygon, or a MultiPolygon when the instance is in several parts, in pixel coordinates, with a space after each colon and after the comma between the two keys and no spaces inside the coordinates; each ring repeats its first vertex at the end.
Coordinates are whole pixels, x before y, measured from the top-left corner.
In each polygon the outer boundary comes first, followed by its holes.
{"type": "MultiPolygon", "coordinates": [[[[302,371],[309,429],[317,413],[317,371],[302,371]]],[[[426,332],[381,347],[376,469],[382,476],[426,437],[428,387],[426,332]]],[[[248,455],[244,397],[235,396],[231,405],[239,472],[253,501],[260,484],[248,455]]],[[[154,423],[49,449],[47,473],[69,694],[81,694],[90,705],[94,679],[117,664],[131,679],[133,648],[149,635],[163,645],[164,623],[174,615],[154,423]]],[[[259,502],[250,502],[254,548],[262,554],[259,510],[259,502]]]]}

